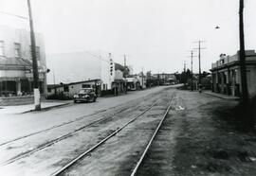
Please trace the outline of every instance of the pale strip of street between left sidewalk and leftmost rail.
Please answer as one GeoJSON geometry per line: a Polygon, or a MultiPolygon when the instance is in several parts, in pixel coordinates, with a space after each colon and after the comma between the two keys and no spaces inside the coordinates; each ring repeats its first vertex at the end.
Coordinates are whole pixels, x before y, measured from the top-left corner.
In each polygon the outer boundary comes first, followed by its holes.
{"type": "Polygon", "coordinates": [[[0,136],[0,144],[31,132],[39,132],[53,126],[73,121],[84,115],[118,109],[119,106],[131,100],[145,97],[163,89],[164,87],[156,87],[144,91],[129,92],[127,95],[119,97],[100,97],[97,99],[96,103],[71,104],[71,106],[40,113],[1,114],[0,133],[5,133],[6,135],[0,136]]]}

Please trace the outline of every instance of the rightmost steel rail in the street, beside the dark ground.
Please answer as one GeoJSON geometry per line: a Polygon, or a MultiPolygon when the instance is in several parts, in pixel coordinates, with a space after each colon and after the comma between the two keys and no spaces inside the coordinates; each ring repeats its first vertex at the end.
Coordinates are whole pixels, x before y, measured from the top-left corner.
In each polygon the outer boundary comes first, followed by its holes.
{"type": "Polygon", "coordinates": [[[171,100],[171,102],[170,102],[170,105],[168,106],[168,108],[167,108],[165,114],[163,115],[161,121],[159,122],[159,124],[158,124],[158,126],[157,126],[157,128],[156,128],[156,130],[155,130],[155,132],[154,132],[154,134],[153,134],[153,136],[152,136],[152,138],[150,139],[150,142],[148,143],[148,145],[147,145],[147,147],[146,147],[146,149],[144,150],[144,152],[143,152],[142,155],[140,156],[140,158],[139,158],[139,160],[138,160],[138,162],[137,162],[136,167],[133,169],[133,172],[132,172],[131,176],[135,176],[135,175],[137,174],[137,169],[138,169],[138,167],[141,165],[141,163],[142,163],[142,161],[143,161],[143,159],[144,159],[146,153],[148,152],[148,150],[149,150],[149,148],[150,148],[150,146],[151,146],[153,140],[155,139],[156,133],[159,131],[160,127],[161,127],[162,124],[163,124],[164,119],[166,118],[167,114],[169,113],[169,111],[170,111],[170,109],[171,109],[171,107],[172,107],[173,101],[174,101],[174,97],[172,98],[172,100],[171,100]]]}

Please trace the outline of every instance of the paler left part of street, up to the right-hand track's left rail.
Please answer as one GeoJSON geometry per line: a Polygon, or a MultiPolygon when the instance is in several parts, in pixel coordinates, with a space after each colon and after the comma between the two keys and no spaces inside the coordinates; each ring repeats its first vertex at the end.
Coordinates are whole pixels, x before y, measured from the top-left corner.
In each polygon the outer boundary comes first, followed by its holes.
{"type": "Polygon", "coordinates": [[[0,139],[1,173],[50,175],[156,100],[168,97],[166,88],[99,98],[97,103],[73,104],[47,112],[1,116],[1,133],[7,134],[0,139]]]}

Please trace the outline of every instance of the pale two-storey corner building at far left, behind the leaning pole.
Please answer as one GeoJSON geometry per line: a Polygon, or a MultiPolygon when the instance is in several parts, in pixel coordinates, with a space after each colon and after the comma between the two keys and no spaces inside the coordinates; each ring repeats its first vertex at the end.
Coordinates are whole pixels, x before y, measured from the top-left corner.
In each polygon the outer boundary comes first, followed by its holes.
{"type": "MultiPolygon", "coordinates": [[[[36,33],[40,93],[46,94],[46,54],[43,36],[36,33]]],[[[33,93],[30,33],[0,26],[0,97],[33,93]]]]}

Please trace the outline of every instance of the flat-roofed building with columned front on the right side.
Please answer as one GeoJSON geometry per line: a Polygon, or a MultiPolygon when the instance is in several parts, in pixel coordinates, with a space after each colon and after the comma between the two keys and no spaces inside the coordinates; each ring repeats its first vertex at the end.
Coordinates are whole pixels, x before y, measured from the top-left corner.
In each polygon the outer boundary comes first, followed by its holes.
{"type": "MultiPolygon", "coordinates": [[[[246,51],[247,88],[249,97],[256,95],[256,53],[246,51]]],[[[233,56],[220,55],[220,60],[211,64],[212,91],[240,97],[242,93],[239,51],[233,56]]]]}

